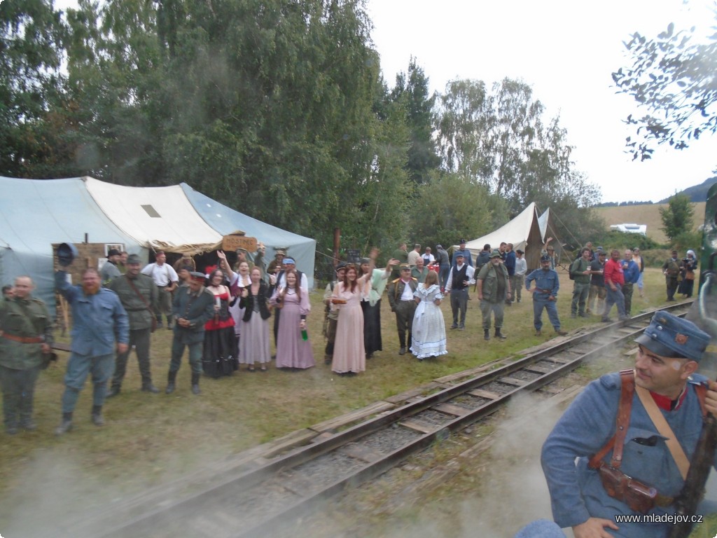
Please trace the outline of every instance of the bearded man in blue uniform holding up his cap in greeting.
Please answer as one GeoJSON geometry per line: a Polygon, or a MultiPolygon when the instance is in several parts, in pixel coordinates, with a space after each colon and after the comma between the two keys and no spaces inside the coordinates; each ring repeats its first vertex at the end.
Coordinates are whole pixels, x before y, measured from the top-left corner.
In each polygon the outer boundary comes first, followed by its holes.
{"type": "Polygon", "coordinates": [[[107,381],[115,366],[115,347],[119,354],[128,350],[129,321],[120,298],[100,285],[100,274],[94,268],[82,273],[82,285],[72,285],[65,271],[54,273],[55,289],[67,299],[72,308],[72,345],[65,373],[65,393],[62,395],[62,422],[55,430],[62,435],[72,430],[72,413],[77,397],[92,374],[92,423],[105,423],[102,406],[105,403],[107,381]]]}

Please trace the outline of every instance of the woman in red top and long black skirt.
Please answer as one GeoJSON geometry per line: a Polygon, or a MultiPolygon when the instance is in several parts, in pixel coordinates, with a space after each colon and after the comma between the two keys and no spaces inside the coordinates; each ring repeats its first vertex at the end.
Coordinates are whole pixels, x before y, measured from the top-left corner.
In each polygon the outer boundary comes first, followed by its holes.
{"type": "Polygon", "coordinates": [[[239,368],[237,341],[234,338],[234,319],[229,315],[229,288],[224,285],[224,273],[215,269],[209,275],[207,289],[214,294],[214,318],[204,324],[204,351],[201,367],[209,377],[231,375],[239,368]]]}

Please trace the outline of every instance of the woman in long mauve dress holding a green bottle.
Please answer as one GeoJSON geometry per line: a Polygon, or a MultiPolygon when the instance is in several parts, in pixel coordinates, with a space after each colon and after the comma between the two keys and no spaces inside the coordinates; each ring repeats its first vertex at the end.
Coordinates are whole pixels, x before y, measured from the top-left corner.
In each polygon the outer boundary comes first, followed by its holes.
{"type": "MultiPolygon", "coordinates": [[[[281,309],[276,342],[276,367],[305,369],[313,367],[311,342],[302,338],[310,311],[308,293],[301,289],[293,270],[285,273],[286,287],[277,288],[271,303],[281,309]]],[[[359,307],[360,308],[360,307],[359,307]]]]}

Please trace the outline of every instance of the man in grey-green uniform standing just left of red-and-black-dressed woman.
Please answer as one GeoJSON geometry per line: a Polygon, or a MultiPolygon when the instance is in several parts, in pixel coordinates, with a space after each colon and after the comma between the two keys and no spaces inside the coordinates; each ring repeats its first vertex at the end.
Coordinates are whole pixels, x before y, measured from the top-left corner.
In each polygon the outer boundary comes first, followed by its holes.
{"type": "Polygon", "coordinates": [[[204,343],[204,324],[214,316],[214,294],[204,288],[204,273],[189,273],[189,283],[179,288],[174,296],[174,339],[172,340],[172,358],[169,363],[167,388],[171,394],[176,388],[176,377],[181,367],[184,347],[189,348],[189,366],[191,367],[191,392],[199,394],[201,376],[201,351],[204,343]]]}

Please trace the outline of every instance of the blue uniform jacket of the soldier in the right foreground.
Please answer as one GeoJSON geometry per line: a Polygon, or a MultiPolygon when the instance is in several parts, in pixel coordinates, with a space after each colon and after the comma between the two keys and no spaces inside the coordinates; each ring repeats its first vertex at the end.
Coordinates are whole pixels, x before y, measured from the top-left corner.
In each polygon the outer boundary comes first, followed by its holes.
{"type": "MultiPolygon", "coordinates": [[[[706,382],[693,375],[691,385],[706,382]]],[[[702,430],[702,413],[697,394],[688,386],[685,400],[676,410],[662,410],[665,420],[691,458],[702,430]]],[[[568,407],[543,444],[541,461],[550,490],[553,518],[560,527],[573,527],[589,517],[614,522],[615,514],[635,514],[627,504],[608,496],[598,471],[587,467],[590,456],[597,453],[615,433],[620,399],[619,374],[607,374],[590,383],[568,407]],[[579,458],[577,463],[575,459],[579,458]]],[[[609,463],[612,451],[604,461],[609,463]]],[[[623,473],[657,488],[660,494],[676,496],[683,479],[665,438],[657,433],[637,394],[632,399],[630,426],[625,437],[623,473]],[[654,446],[644,440],[655,441],[654,446]],[[642,443],[637,442],[642,440],[642,443]]],[[[651,514],[672,514],[671,506],[657,506],[651,514]]],[[[667,535],[669,523],[618,523],[615,536],[660,538],[667,535]]]]}

